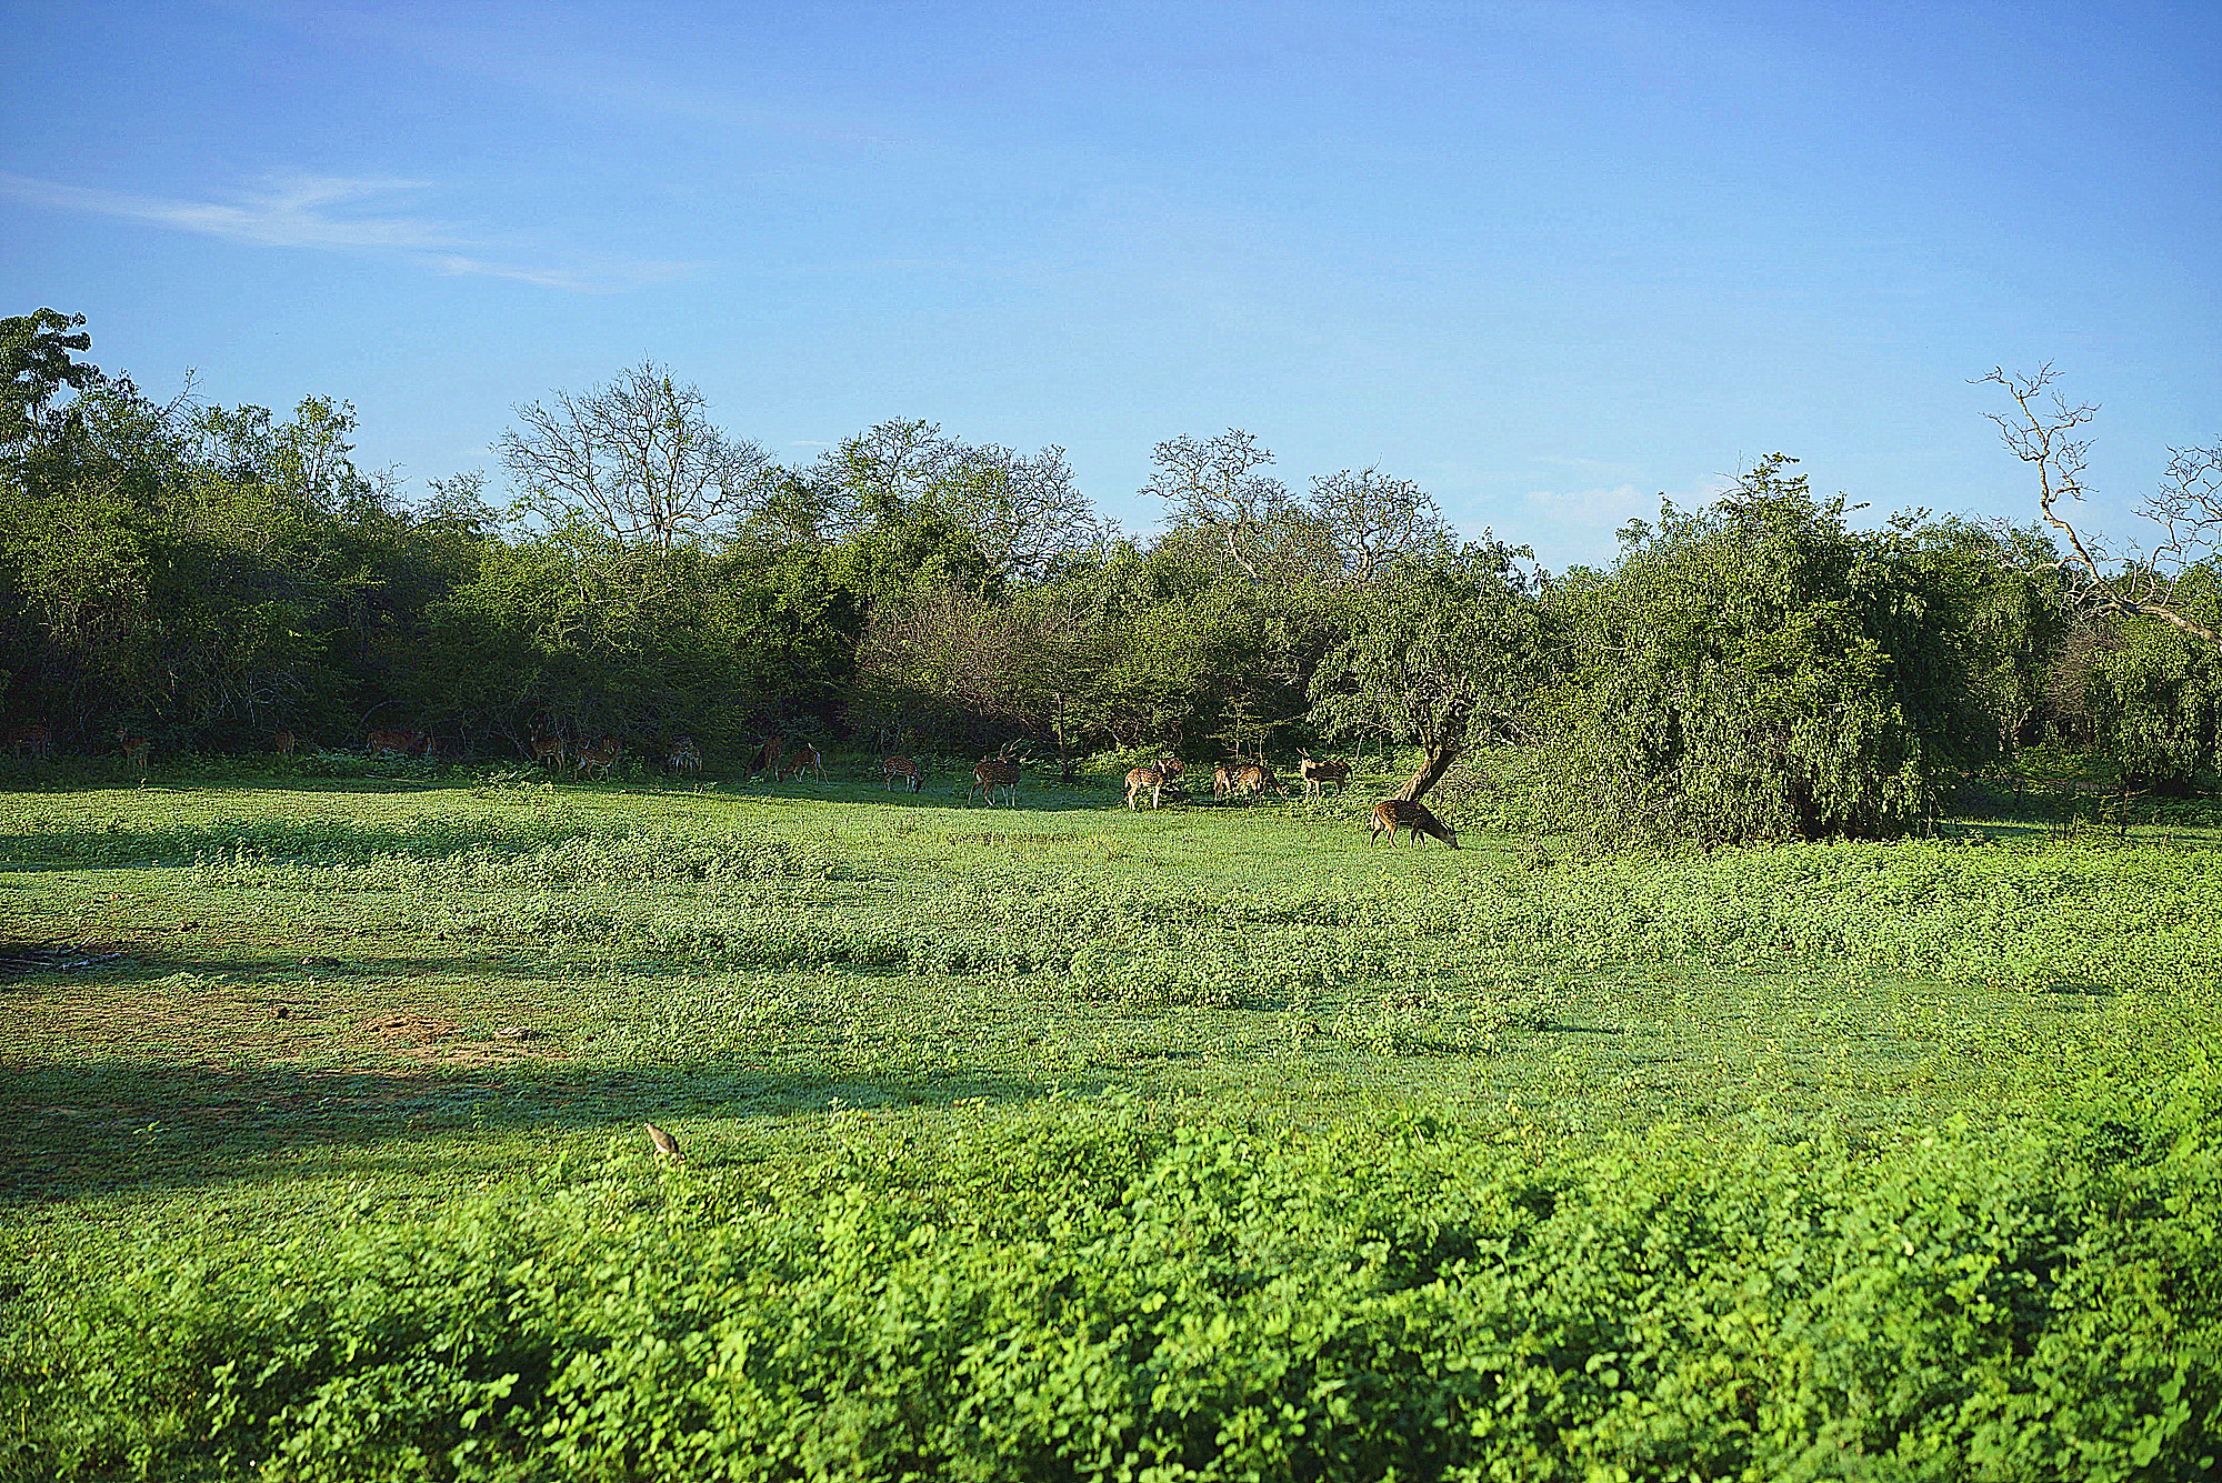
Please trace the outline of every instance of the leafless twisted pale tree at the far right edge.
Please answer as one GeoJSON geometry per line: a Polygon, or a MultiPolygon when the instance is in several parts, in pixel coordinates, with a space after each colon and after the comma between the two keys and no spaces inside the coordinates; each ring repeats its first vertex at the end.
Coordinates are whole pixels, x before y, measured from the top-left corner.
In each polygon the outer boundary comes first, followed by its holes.
{"type": "Polygon", "coordinates": [[[2051,362],[2033,375],[1993,366],[1975,384],[1995,384],[2013,397],[2011,413],[1991,413],[2006,437],[2006,448],[2038,471],[2038,511],[2044,524],[2066,537],[2066,553],[2046,568],[2060,571],[2066,595],[2084,613],[2120,613],[2124,617],[2158,617],[2160,622],[2222,648],[2222,630],[2191,617],[2175,602],[2178,584],[2193,566],[2222,553],[2222,442],[2213,448],[2169,448],[2173,455],[2160,491],[2149,495],[2138,515],[2160,526],[2162,539],[2151,548],[2138,544],[2120,553],[2082,531],[2071,519],[2066,500],[2082,502],[2084,466],[2091,440],[2075,431],[2086,426],[2098,408],[2071,404],[2049,393],[2058,380],[2051,362]]]}

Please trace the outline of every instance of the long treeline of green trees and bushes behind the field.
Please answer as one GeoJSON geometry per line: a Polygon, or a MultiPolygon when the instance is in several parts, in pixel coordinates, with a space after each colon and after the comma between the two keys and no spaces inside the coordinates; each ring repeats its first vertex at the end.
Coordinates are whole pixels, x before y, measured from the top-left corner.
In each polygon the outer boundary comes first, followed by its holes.
{"type": "MultiPolygon", "coordinates": [[[[787,466],[644,364],[518,408],[511,502],[480,475],[411,502],[353,462],[344,402],[162,406],[80,326],[0,320],[4,715],[62,750],[1380,737],[1424,750],[1413,795],[1467,759],[1453,788],[1518,775],[1533,824],[1706,841],[1898,830],[2042,739],[2140,786],[2215,777],[2213,646],[2062,602],[2038,528],[1853,528],[1780,455],[1553,575],[1382,471],[1291,491],[1247,433],[1155,448],[1144,537],[1060,448],[884,422],[787,466]],[[1513,750],[1475,779],[1484,746],[1513,750]]],[[[2215,611],[2213,564],[2178,602],[2215,611]]]]}

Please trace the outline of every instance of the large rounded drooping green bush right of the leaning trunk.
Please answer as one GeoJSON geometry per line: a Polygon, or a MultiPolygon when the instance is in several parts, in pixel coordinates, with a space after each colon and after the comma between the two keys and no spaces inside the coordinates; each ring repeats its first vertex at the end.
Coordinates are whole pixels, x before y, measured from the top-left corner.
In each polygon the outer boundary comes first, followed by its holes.
{"type": "Polygon", "coordinates": [[[1909,828],[1973,746],[1926,553],[1860,535],[1789,460],[1693,515],[1633,524],[1611,573],[1553,593],[1567,646],[1542,806],[1589,839],[1909,828]]]}

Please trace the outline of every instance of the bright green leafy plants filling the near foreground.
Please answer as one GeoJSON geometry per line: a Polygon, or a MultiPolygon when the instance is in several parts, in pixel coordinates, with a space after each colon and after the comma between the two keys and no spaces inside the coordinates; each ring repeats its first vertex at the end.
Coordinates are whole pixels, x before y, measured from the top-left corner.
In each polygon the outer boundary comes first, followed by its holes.
{"type": "Polygon", "coordinates": [[[1878,1157],[849,1114],[20,1305],[13,1476],[2193,1479],[2222,1079],[1878,1157]]]}

